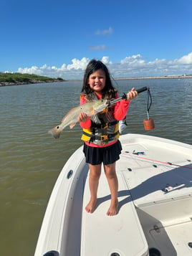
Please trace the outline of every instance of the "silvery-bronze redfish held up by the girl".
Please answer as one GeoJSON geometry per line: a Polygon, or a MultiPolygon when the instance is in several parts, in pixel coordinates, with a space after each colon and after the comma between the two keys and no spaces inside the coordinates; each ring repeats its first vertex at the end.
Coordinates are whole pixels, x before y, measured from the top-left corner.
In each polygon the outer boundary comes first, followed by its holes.
{"type": "Polygon", "coordinates": [[[78,122],[78,116],[80,113],[86,113],[88,116],[100,113],[107,109],[107,100],[94,100],[90,103],[85,103],[79,105],[76,108],[69,110],[67,115],[62,118],[62,123],[52,128],[49,133],[54,136],[54,138],[59,138],[63,129],[69,125],[72,129],[78,122]]]}

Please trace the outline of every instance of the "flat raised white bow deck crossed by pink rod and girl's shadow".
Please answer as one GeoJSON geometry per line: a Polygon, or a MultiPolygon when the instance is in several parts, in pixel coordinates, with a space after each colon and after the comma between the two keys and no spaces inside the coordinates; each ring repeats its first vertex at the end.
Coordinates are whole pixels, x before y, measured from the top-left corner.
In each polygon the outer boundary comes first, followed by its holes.
{"type": "Polygon", "coordinates": [[[169,148],[168,143],[135,141],[123,144],[117,168],[124,171],[134,204],[141,207],[191,194],[191,161],[192,155],[179,151],[177,146],[169,148]],[[173,190],[165,193],[166,187],[173,190]]]}

